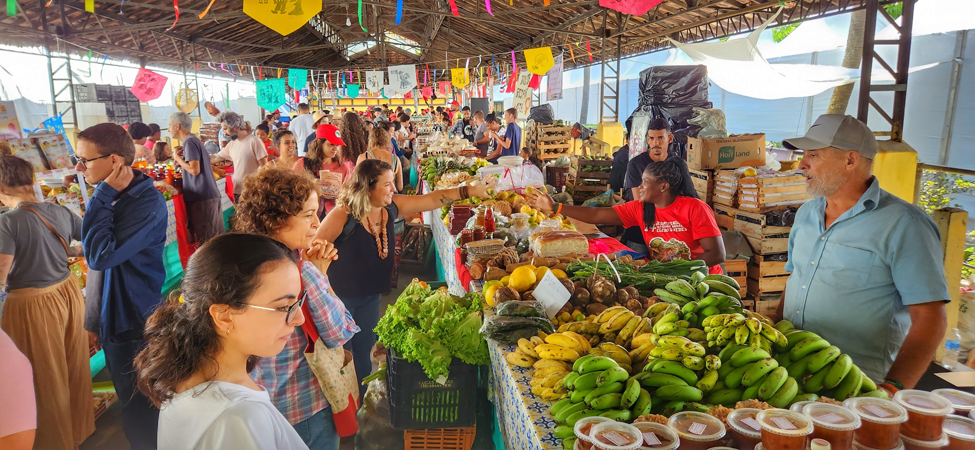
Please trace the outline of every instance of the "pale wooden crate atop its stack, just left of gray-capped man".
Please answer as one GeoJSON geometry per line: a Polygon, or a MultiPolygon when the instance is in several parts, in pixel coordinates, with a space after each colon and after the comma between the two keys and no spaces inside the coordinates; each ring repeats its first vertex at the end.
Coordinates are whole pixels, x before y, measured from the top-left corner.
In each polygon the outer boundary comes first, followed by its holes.
{"type": "Polygon", "coordinates": [[[738,179],[738,208],[765,212],[800,206],[812,196],[805,192],[805,176],[797,172],[777,172],[738,179]]]}

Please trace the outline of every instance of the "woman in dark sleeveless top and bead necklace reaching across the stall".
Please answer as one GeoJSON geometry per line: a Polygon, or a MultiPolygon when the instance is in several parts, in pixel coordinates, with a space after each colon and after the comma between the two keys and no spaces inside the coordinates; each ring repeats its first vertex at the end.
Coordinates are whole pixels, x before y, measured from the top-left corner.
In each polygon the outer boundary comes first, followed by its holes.
{"type": "MultiPolygon", "coordinates": [[[[335,244],[341,264],[329,266],[329,278],[352,318],[362,328],[346,344],[356,363],[356,375],[370,374],[370,350],[375,344],[376,322],[383,291],[393,277],[395,232],[393,222],[417,212],[452,205],[469,197],[487,197],[487,185],[441,189],[421,196],[396,194],[395,175],[389,164],[366,160],[356,166],[352,177],[335,202],[335,208],[322,222],[316,239],[335,244]],[[366,269],[368,268],[368,269],[366,269]]],[[[239,207],[239,206],[238,206],[239,207]]],[[[360,386],[366,394],[366,387],[360,386]]]]}

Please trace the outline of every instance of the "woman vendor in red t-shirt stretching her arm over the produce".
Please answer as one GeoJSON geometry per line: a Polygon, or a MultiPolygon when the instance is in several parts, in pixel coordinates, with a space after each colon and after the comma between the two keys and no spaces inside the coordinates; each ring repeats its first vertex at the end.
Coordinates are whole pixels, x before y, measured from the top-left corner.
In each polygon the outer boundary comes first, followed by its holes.
{"type": "Polygon", "coordinates": [[[562,205],[547,195],[529,197],[539,209],[561,212],[583,222],[639,226],[647,244],[653,238],[677,239],[687,244],[692,258],[708,264],[710,273],[722,273],[722,232],[711,208],[697,198],[687,165],[679,158],[647,165],[643,170],[640,199],[612,208],[562,205]]]}

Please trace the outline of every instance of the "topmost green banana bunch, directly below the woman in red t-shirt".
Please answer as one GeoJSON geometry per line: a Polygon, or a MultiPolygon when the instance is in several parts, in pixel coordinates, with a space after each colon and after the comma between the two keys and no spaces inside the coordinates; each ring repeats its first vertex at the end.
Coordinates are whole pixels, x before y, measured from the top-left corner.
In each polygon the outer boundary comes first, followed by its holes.
{"type": "Polygon", "coordinates": [[[670,281],[665,288],[653,289],[657,298],[677,305],[682,320],[700,328],[705,318],[718,314],[741,313],[738,281],[723,275],[694,272],[690,281],[670,281]]]}

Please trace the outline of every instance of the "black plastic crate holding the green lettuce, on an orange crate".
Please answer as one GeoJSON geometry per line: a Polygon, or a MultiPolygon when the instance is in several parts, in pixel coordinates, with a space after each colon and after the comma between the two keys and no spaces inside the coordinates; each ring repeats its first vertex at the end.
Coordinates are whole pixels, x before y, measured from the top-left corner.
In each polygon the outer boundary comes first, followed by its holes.
{"type": "Polygon", "coordinates": [[[441,385],[419,362],[386,353],[389,424],[398,430],[473,427],[477,414],[478,366],[454,357],[450,376],[441,385]]]}

